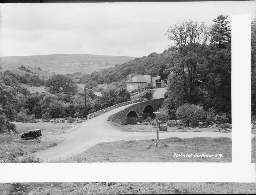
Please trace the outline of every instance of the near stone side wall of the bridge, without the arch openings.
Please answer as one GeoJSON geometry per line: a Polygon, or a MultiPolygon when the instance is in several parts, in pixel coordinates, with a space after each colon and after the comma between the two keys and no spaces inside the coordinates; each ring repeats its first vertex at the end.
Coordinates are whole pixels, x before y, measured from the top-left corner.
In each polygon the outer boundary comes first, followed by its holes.
{"type": "Polygon", "coordinates": [[[130,111],[135,111],[138,119],[140,120],[142,117],[143,110],[145,109],[146,106],[150,105],[156,111],[157,109],[160,108],[164,98],[160,99],[152,99],[152,100],[146,100],[143,102],[138,102],[137,104],[131,105],[127,108],[124,108],[123,110],[116,112],[115,114],[112,114],[111,116],[108,117],[108,121],[112,121],[115,123],[119,124],[125,124],[125,118],[127,114],[130,111]]]}

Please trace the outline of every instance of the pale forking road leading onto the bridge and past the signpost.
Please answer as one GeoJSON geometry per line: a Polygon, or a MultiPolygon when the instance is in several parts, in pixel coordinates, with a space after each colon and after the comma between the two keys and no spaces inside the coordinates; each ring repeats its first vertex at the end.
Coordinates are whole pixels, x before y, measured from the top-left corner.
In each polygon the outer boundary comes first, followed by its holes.
{"type": "MultiPolygon", "coordinates": [[[[137,104],[137,103],[134,103],[137,104]]],[[[130,105],[125,105],[108,112],[105,112],[97,117],[86,120],[83,123],[76,125],[76,129],[67,133],[67,139],[54,147],[47,150],[36,152],[35,155],[42,160],[51,160],[66,158],[71,155],[87,150],[100,142],[111,142],[116,140],[142,140],[153,139],[156,137],[154,132],[121,132],[114,129],[106,120],[111,114],[118,112],[130,105]],[[108,138],[109,137],[109,138],[108,138]]],[[[63,135],[63,134],[62,134],[63,135]]],[[[230,137],[231,133],[215,133],[215,132],[165,132],[160,133],[159,138],[167,137],[230,137]]]]}

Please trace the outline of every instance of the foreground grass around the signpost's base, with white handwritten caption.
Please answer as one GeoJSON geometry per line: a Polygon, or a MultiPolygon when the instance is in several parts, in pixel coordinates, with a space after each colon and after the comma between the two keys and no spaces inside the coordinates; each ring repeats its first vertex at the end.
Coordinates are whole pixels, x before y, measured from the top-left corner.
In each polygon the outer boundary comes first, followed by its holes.
{"type": "Polygon", "coordinates": [[[160,148],[155,145],[150,149],[146,148],[153,143],[153,140],[141,141],[115,141],[99,143],[83,153],[74,155],[67,159],[53,162],[231,162],[231,139],[226,137],[194,137],[180,139],[171,137],[163,139],[169,147],[160,143],[160,148]],[[192,157],[174,157],[176,154],[191,154],[192,157]],[[215,155],[222,154],[222,157],[194,157],[197,154],[215,155]],[[124,155],[125,154],[125,155],[124,155]]]}

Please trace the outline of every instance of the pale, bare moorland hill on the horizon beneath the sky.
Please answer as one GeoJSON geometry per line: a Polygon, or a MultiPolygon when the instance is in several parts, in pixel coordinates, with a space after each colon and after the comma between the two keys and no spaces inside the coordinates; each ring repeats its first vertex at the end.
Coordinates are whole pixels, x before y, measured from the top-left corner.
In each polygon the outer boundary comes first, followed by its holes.
{"type": "MultiPolygon", "coordinates": [[[[13,68],[20,65],[32,68],[40,67],[43,71],[50,71],[56,74],[66,73],[91,73],[104,68],[114,67],[115,64],[123,64],[136,57],[110,56],[92,54],[52,54],[52,55],[31,55],[31,56],[8,56],[0,57],[2,62],[13,68]]],[[[2,65],[2,64],[1,64],[2,65]]],[[[4,65],[5,66],[5,65],[4,65]]]]}

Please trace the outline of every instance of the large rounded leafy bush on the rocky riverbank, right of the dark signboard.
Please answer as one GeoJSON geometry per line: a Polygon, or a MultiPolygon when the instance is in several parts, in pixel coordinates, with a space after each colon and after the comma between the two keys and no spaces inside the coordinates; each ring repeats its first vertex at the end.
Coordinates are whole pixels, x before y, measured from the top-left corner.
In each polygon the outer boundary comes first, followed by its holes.
{"type": "Polygon", "coordinates": [[[203,121],[206,112],[203,107],[195,104],[184,104],[176,110],[177,119],[184,120],[186,125],[192,124],[197,126],[200,121],[203,121]]]}

